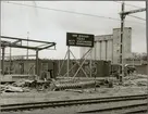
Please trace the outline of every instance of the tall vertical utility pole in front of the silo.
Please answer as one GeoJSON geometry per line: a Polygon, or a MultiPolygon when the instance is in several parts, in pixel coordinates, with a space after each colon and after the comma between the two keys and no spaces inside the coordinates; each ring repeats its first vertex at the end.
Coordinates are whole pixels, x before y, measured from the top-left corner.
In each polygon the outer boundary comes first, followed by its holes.
{"type": "Polygon", "coordinates": [[[120,83],[122,83],[123,79],[123,75],[124,75],[124,58],[123,58],[123,36],[124,36],[124,20],[125,20],[125,15],[124,13],[124,2],[122,2],[122,14],[121,14],[121,45],[120,45],[120,64],[122,65],[122,67],[120,67],[120,73],[122,74],[122,76],[120,76],[120,83]]]}

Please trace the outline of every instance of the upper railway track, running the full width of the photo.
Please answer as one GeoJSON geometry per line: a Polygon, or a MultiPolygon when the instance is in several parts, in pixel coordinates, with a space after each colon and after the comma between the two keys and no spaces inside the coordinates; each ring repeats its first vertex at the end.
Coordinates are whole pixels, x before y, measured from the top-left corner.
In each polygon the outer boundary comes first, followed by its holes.
{"type": "MultiPolygon", "coordinates": [[[[121,101],[133,101],[133,100],[135,101],[135,100],[146,100],[147,98],[148,98],[147,94],[138,94],[138,96],[123,96],[123,97],[110,97],[110,98],[92,98],[92,99],[78,99],[78,100],[64,100],[64,101],[3,104],[1,105],[1,112],[72,106],[72,105],[83,105],[83,104],[97,104],[97,103],[121,102],[121,101]]],[[[145,105],[146,104],[144,104],[143,106],[145,105]]]]}

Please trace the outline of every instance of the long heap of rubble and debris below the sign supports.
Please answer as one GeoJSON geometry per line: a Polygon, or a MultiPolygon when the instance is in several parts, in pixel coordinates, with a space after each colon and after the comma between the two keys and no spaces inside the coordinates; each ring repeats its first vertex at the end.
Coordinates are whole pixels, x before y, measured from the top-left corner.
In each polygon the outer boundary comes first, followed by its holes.
{"type": "Polygon", "coordinates": [[[59,91],[65,89],[85,89],[85,88],[94,88],[94,87],[112,87],[112,83],[104,81],[74,81],[74,83],[61,83],[59,80],[20,80],[12,84],[0,85],[1,92],[29,92],[33,89],[37,91],[50,90],[50,91],[59,91]]]}

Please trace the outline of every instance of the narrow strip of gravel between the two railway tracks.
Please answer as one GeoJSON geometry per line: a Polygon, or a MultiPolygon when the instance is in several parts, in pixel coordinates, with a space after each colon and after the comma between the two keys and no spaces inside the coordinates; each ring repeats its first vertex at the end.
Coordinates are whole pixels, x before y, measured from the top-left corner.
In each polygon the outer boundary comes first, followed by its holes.
{"type": "MultiPolygon", "coordinates": [[[[115,103],[110,102],[110,103],[79,105],[79,106],[65,106],[65,107],[55,107],[55,109],[44,109],[44,110],[34,110],[34,111],[11,112],[11,114],[78,114],[77,112],[81,112],[81,111],[103,109],[103,107],[110,107],[110,106],[120,106],[120,105],[126,105],[127,103],[128,104],[134,104],[134,103],[143,103],[143,102],[146,102],[146,101],[139,100],[139,101],[124,101],[124,102],[115,102],[115,103]]],[[[10,112],[3,113],[3,114],[9,114],[9,113],[10,112]]],[[[107,113],[101,113],[101,114],[107,114],[107,113]]],[[[116,113],[112,112],[110,114],[116,114],[116,113]]]]}

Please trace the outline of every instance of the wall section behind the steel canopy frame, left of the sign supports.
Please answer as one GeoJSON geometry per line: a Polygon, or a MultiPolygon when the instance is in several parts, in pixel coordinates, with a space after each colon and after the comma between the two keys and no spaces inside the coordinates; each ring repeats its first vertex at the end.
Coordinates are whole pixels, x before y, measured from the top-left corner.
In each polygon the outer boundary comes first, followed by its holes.
{"type": "MultiPolygon", "coordinates": [[[[53,61],[50,60],[39,60],[39,77],[41,77],[44,72],[47,72],[48,69],[57,69],[53,61]]],[[[11,74],[36,74],[36,60],[13,60],[11,66],[11,74]],[[21,67],[21,64],[23,67],[21,67]]],[[[9,66],[10,62],[4,62],[4,72],[5,74],[9,74],[9,66]]],[[[54,71],[55,72],[55,71],[54,71]]],[[[52,72],[52,75],[55,75],[54,72],[52,72]]],[[[48,74],[50,78],[50,74],[48,74]]]]}

